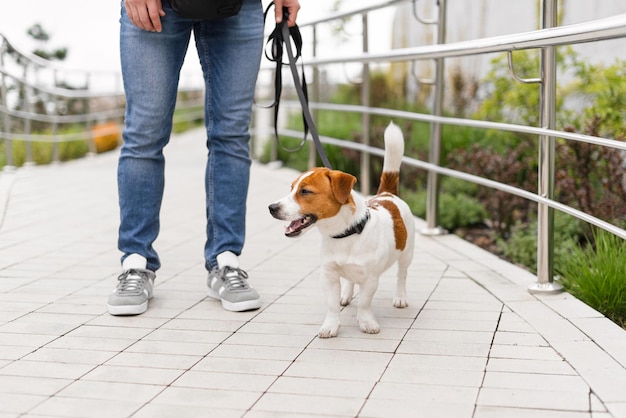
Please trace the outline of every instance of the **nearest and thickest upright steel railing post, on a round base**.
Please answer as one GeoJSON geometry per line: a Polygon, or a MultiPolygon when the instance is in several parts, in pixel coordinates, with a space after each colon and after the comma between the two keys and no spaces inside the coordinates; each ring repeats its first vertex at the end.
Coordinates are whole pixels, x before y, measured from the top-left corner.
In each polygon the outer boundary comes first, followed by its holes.
{"type": "MultiPolygon", "coordinates": [[[[557,25],[557,0],[543,0],[542,29],[557,25]]],[[[541,50],[541,96],[539,124],[554,129],[556,125],[556,47],[541,50]]],[[[554,137],[539,135],[538,194],[554,198],[554,137]]],[[[537,209],[537,282],[528,287],[531,293],[557,293],[563,286],[554,283],[554,209],[539,203],[537,209]]]]}

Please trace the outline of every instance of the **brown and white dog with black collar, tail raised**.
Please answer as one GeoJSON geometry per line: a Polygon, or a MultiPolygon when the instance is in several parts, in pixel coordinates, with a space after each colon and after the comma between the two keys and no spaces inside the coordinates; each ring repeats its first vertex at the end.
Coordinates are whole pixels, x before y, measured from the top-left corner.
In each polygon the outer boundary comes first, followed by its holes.
{"type": "Polygon", "coordinates": [[[383,172],[375,196],[365,200],[352,190],[356,183],[353,175],[318,167],[298,176],[291,192],[269,205],[274,218],[290,221],[287,237],[299,237],[313,227],[322,235],[320,274],[328,307],[318,332],[321,338],[337,336],[341,306],[352,300],[355,284],[359,285],[361,331],[380,331],[371,303],[380,276],[396,262],[393,306],[408,306],[406,279],[413,259],[415,226],[409,206],[398,197],[404,136],[391,122],[384,139],[383,172]]]}

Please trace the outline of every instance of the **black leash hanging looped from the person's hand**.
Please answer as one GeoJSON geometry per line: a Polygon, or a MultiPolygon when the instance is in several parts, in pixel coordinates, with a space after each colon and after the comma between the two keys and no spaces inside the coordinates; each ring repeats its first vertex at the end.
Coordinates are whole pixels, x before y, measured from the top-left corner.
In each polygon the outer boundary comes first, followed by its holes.
{"type": "MultiPolygon", "coordinates": [[[[267,14],[270,8],[274,6],[274,2],[270,3],[265,9],[264,18],[267,19],[267,14]]],[[[315,148],[317,153],[322,160],[322,164],[326,168],[332,168],[330,162],[328,161],[328,157],[326,156],[326,152],[324,151],[324,147],[322,146],[322,142],[320,141],[319,134],[317,133],[317,128],[315,123],[313,122],[313,117],[311,116],[311,112],[309,110],[309,94],[307,91],[306,78],[304,76],[304,66],[302,66],[302,82],[298,79],[298,67],[296,66],[296,61],[298,58],[302,56],[302,35],[300,34],[300,29],[297,25],[289,27],[287,24],[287,20],[289,17],[289,12],[287,8],[283,8],[283,20],[280,23],[276,24],[276,27],[269,35],[266,48],[265,48],[265,56],[268,60],[276,63],[276,74],[274,78],[275,85],[275,94],[274,94],[274,103],[270,107],[274,107],[274,134],[276,136],[276,141],[283,147],[283,149],[293,152],[301,149],[305,142],[306,137],[309,131],[311,132],[311,137],[313,138],[313,142],[315,144],[315,148]],[[291,39],[296,47],[296,55],[294,56],[293,50],[291,48],[291,39]],[[267,45],[271,44],[271,57],[267,53],[267,45]],[[287,57],[289,59],[288,64],[283,64],[283,44],[287,50],[287,57]],[[280,142],[280,138],[278,136],[278,106],[280,103],[280,96],[282,93],[282,66],[289,65],[291,69],[291,75],[293,77],[293,82],[296,88],[296,93],[298,94],[298,99],[300,100],[300,105],[302,106],[302,122],[304,124],[304,138],[298,147],[293,149],[288,149],[283,146],[280,142]]]]}

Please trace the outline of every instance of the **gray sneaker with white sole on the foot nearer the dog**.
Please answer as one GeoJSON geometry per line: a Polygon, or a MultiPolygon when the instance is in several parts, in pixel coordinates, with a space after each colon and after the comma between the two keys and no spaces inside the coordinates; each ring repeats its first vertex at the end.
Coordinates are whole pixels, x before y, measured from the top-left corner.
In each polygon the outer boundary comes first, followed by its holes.
{"type": "Polygon", "coordinates": [[[230,266],[214,268],[207,279],[208,294],[220,299],[222,306],[228,311],[242,312],[259,309],[261,297],[256,290],[248,285],[248,274],[230,266]]]}

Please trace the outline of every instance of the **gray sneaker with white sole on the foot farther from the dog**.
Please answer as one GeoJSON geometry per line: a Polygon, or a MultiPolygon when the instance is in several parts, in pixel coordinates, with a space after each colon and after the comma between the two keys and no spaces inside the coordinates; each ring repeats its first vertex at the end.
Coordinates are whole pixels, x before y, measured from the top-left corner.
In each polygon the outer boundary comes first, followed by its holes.
{"type": "Polygon", "coordinates": [[[107,309],[111,315],[139,315],[148,309],[154,290],[154,272],[128,269],[117,278],[117,288],[109,296],[107,309]]]}

